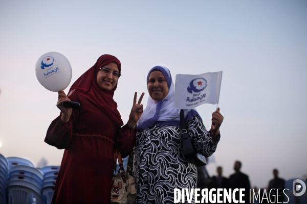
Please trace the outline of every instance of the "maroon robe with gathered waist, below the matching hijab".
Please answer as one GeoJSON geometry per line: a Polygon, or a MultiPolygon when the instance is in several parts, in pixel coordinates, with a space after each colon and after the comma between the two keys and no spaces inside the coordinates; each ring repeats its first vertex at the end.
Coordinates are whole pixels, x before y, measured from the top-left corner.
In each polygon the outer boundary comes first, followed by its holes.
{"type": "Polygon", "coordinates": [[[65,148],[52,203],[110,203],[114,142],[125,157],[134,147],[135,129],[120,129],[82,95],[81,104],[68,122],[57,117],[49,126],[45,142],[65,148]]]}

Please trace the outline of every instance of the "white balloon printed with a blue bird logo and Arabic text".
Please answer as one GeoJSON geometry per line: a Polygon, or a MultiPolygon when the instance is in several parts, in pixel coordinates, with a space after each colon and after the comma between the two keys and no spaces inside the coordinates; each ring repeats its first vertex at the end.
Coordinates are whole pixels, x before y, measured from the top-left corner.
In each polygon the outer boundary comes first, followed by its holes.
{"type": "Polygon", "coordinates": [[[50,52],[38,58],[35,65],[38,82],[49,91],[58,92],[68,87],[72,80],[72,67],[60,53],[50,52]]]}

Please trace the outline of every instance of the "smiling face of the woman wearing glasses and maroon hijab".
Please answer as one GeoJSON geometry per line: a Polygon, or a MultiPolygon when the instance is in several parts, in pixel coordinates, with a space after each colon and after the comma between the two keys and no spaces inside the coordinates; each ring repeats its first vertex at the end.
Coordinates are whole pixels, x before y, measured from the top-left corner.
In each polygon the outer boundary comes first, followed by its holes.
{"type": "MultiPolygon", "coordinates": [[[[119,72],[117,64],[111,62],[107,65],[101,67],[103,69],[108,69],[111,72],[119,72]]],[[[97,72],[97,84],[99,88],[103,91],[110,91],[112,90],[115,85],[117,84],[118,78],[113,76],[113,73],[106,74],[102,69],[99,69],[97,72]]]]}

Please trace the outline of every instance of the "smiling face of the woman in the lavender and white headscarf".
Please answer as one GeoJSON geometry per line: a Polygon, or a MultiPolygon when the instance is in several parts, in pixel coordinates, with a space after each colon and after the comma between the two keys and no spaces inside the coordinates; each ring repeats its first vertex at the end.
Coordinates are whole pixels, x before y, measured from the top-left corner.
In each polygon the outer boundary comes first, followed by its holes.
{"type": "Polygon", "coordinates": [[[152,71],[149,75],[147,89],[153,100],[162,100],[168,93],[167,82],[161,71],[152,71]]]}

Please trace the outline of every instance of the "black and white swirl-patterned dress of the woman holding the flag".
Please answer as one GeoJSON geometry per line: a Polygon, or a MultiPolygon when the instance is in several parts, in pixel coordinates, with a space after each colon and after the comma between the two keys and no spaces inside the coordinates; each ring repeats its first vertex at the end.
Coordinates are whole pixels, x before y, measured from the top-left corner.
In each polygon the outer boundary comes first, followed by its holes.
{"type": "MultiPolygon", "coordinates": [[[[213,142],[197,115],[186,125],[198,152],[205,157],[211,156],[220,136],[213,142]]],[[[196,188],[196,166],[181,158],[180,127],[155,123],[138,132],[129,159],[131,163],[133,159],[133,175],[137,183],[136,203],[173,203],[174,188],[196,188]]]]}

